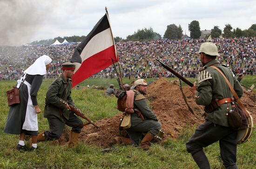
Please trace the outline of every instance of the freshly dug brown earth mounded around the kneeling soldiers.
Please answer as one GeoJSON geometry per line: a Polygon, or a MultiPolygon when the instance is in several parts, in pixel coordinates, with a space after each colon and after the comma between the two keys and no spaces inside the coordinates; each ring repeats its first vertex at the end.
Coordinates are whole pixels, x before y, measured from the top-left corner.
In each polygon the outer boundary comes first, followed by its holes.
{"type": "MultiPolygon", "coordinates": [[[[193,109],[197,117],[202,120],[196,119],[195,116],[189,112],[189,109],[183,100],[182,92],[177,84],[177,81],[170,82],[165,78],[160,78],[148,86],[150,108],[155,112],[162,124],[162,130],[165,131],[164,139],[177,139],[184,127],[199,125],[203,122],[203,118],[200,116],[203,111],[203,106],[196,105],[195,96],[189,91],[189,86],[182,87],[189,106],[193,109]]],[[[255,121],[255,94],[245,92],[241,101],[255,121]]],[[[108,144],[112,138],[125,135],[125,131],[120,133],[118,129],[120,118],[121,113],[112,118],[96,121],[95,124],[101,127],[100,130],[96,129],[93,125],[85,126],[81,132],[79,138],[80,141],[86,144],[94,144],[102,148],[108,148],[108,144]]],[[[58,141],[59,144],[67,142],[67,132],[63,133],[61,139],[58,141]]]]}

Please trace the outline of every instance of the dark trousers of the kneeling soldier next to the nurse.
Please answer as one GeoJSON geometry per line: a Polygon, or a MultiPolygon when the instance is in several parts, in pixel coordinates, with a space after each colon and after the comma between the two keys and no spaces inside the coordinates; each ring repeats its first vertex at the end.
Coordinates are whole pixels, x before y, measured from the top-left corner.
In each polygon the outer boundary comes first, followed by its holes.
{"type": "MultiPolygon", "coordinates": [[[[65,122],[61,121],[58,118],[47,118],[49,123],[49,131],[45,131],[45,138],[46,140],[56,140],[61,137],[63,129],[65,127],[65,122]]],[[[83,122],[81,119],[76,117],[73,113],[70,113],[68,122],[74,125],[82,125],[83,122]]],[[[83,127],[72,126],[67,124],[68,126],[72,127],[72,131],[76,133],[80,133],[83,127]]]]}

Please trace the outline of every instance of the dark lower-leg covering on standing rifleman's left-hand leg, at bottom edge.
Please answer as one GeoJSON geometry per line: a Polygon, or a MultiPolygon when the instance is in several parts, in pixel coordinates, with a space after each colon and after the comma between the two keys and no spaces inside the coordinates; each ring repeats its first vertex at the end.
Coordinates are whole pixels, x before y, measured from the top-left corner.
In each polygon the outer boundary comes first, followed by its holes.
{"type": "Polygon", "coordinates": [[[209,161],[205,156],[203,150],[191,153],[191,155],[200,169],[210,169],[209,161]]]}

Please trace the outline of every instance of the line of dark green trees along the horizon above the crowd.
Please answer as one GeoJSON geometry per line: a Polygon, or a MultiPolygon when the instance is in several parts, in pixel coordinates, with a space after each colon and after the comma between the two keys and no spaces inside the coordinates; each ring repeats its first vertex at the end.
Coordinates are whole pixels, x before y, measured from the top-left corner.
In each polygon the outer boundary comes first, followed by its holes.
{"type": "MultiPolygon", "coordinates": [[[[190,38],[197,39],[201,36],[201,28],[199,25],[199,22],[197,20],[193,20],[189,24],[189,31],[190,31],[190,38]]],[[[181,39],[182,34],[182,27],[181,25],[177,26],[175,24],[167,25],[167,29],[163,35],[163,38],[168,39],[181,39]]],[[[226,24],[222,30],[219,28],[219,26],[215,25],[211,29],[211,36],[212,38],[218,38],[220,36],[223,36],[224,38],[240,38],[240,37],[256,37],[256,24],[251,25],[248,29],[241,30],[240,28],[233,28],[230,24],[226,24]]],[[[72,36],[72,37],[57,37],[54,39],[47,39],[47,40],[40,40],[40,41],[34,41],[30,44],[53,44],[56,39],[58,39],[59,42],[63,42],[64,39],[66,39],[68,42],[81,42],[85,36],[72,36]]],[[[157,40],[161,39],[162,36],[155,32],[151,27],[150,28],[143,28],[138,29],[134,32],[132,35],[128,35],[126,39],[115,37],[115,42],[120,41],[148,41],[148,40],[157,40]]]]}

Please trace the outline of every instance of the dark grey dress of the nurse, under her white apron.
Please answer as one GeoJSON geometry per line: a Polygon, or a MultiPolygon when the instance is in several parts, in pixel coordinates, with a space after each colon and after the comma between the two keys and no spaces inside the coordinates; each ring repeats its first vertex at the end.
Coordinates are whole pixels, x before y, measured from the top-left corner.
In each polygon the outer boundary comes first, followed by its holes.
{"type": "MultiPolygon", "coordinates": [[[[26,133],[31,135],[37,135],[38,133],[37,119],[34,119],[34,121],[36,121],[36,124],[33,124],[34,126],[31,126],[32,128],[35,128],[35,129],[37,128],[36,131],[24,130],[22,129],[22,127],[24,125],[26,116],[28,116],[29,114],[27,113],[28,102],[32,101],[33,105],[30,105],[31,107],[38,105],[36,97],[37,97],[37,92],[43,81],[43,75],[27,75],[27,78],[25,81],[26,81],[25,83],[28,83],[27,85],[31,85],[30,97],[28,95],[29,87],[23,83],[20,86],[20,104],[10,106],[7,122],[4,128],[4,132],[6,133],[9,133],[9,134],[26,133]],[[30,98],[31,100],[29,100],[30,98]]],[[[37,118],[37,115],[33,118],[37,118]]]]}

